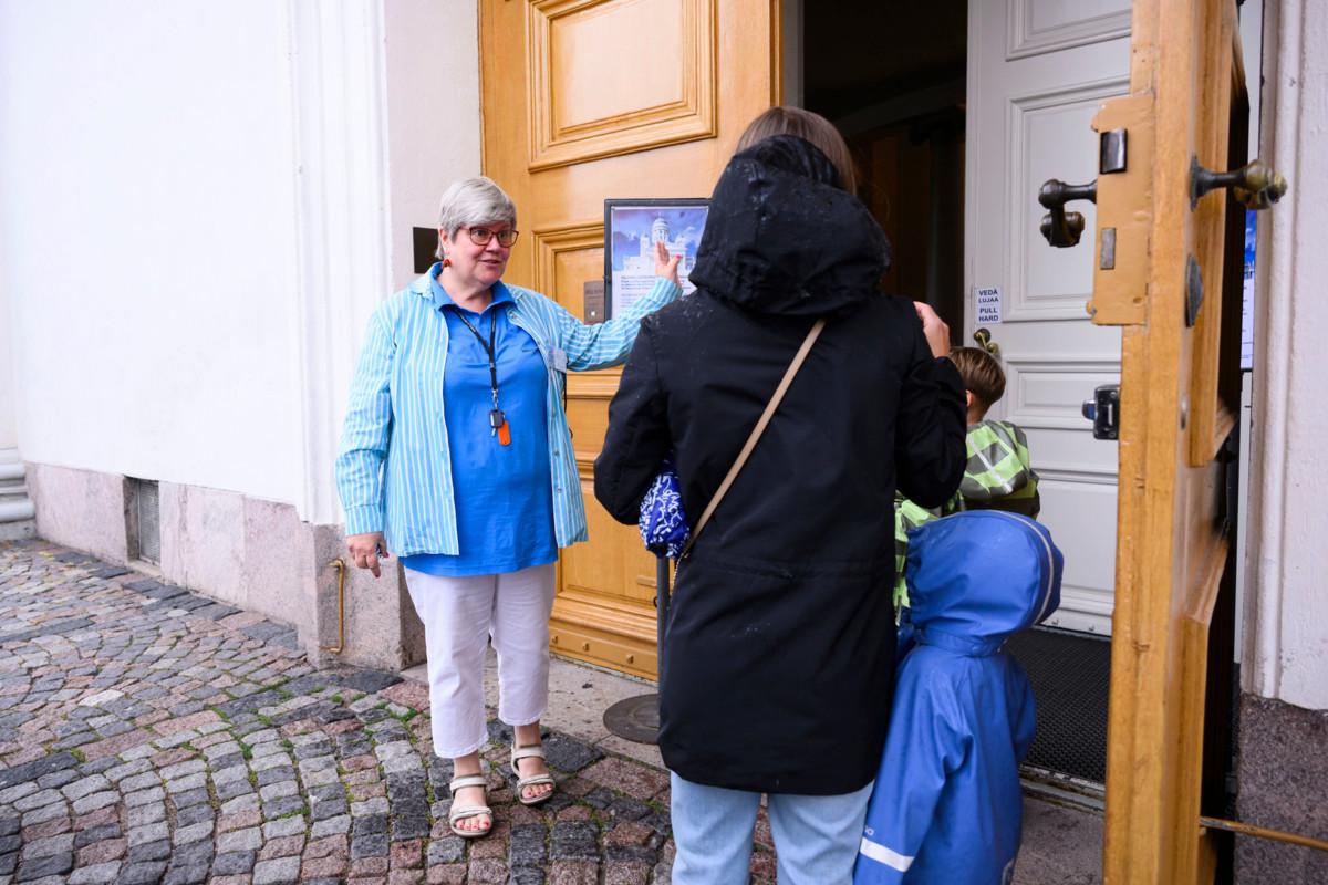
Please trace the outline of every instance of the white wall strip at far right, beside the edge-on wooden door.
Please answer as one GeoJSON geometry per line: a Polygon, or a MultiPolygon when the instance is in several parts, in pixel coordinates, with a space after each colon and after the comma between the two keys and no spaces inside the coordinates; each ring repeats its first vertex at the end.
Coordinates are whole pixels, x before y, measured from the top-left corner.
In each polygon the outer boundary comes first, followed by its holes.
{"type": "Polygon", "coordinates": [[[1244,689],[1328,710],[1328,4],[1264,5],[1260,157],[1291,182],[1259,220],[1244,689]]]}

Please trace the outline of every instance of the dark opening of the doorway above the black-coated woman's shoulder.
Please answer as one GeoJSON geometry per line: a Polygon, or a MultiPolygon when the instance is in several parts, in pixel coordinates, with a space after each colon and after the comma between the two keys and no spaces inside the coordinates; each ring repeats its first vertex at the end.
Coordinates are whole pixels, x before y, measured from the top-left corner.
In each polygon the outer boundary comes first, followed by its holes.
{"type": "Polygon", "coordinates": [[[963,334],[967,0],[842,0],[803,12],[803,106],[834,121],[858,195],[895,248],[886,291],[963,334]]]}

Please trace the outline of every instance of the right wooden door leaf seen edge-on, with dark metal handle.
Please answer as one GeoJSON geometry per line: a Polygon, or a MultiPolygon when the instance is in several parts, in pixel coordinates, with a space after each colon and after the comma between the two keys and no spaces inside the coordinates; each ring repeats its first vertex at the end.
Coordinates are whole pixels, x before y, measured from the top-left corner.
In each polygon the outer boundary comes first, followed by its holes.
{"type": "Polygon", "coordinates": [[[1239,366],[1243,231],[1226,191],[1193,198],[1191,166],[1243,162],[1228,151],[1248,113],[1235,25],[1234,0],[1135,0],[1130,94],[1094,119],[1127,138],[1125,167],[1097,175],[1090,247],[1093,322],[1122,330],[1104,865],[1117,885],[1211,882],[1218,866],[1199,813],[1226,801],[1228,719],[1206,705],[1231,691],[1222,677],[1208,685],[1231,661],[1208,640],[1231,614],[1218,455],[1235,395],[1223,379],[1239,366]]]}

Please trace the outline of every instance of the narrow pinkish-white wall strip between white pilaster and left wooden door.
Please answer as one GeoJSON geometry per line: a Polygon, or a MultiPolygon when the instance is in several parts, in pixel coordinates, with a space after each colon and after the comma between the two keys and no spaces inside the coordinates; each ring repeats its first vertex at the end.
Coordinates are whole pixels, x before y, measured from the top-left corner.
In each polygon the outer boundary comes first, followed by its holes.
{"type": "Polygon", "coordinates": [[[416,276],[410,228],[437,227],[444,188],[479,174],[479,5],[392,0],[384,12],[392,280],[402,288],[416,276]]]}

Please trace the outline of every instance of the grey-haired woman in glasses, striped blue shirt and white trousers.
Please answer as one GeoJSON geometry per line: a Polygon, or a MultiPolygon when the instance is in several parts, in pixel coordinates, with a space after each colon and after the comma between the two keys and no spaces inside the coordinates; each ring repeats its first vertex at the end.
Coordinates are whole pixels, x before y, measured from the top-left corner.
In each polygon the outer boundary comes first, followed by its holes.
{"type": "Polygon", "coordinates": [[[515,730],[518,797],[552,795],[539,718],[558,549],[586,540],[563,411],[564,374],[618,365],[643,316],[681,295],[677,259],[623,316],[586,325],[502,281],[517,210],[487,178],[442,195],[438,257],[369,318],[336,463],[347,549],[377,577],[401,557],[425,628],[433,748],[453,760],[449,824],[489,832],[479,750],[483,662],[498,653],[498,715],[515,730]]]}

